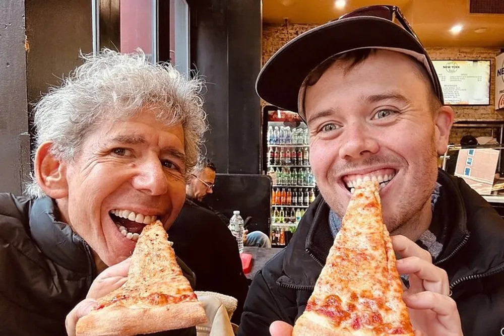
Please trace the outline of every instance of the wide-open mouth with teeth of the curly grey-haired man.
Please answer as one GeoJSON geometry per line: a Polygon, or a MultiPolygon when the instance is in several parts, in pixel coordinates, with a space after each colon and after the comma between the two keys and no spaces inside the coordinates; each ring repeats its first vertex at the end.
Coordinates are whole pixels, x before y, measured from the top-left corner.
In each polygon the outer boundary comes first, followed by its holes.
{"type": "Polygon", "coordinates": [[[126,238],[137,241],[138,236],[147,224],[156,221],[156,216],[135,213],[131,210],[114,209],[109,212],[117,230],[126,238]]]}

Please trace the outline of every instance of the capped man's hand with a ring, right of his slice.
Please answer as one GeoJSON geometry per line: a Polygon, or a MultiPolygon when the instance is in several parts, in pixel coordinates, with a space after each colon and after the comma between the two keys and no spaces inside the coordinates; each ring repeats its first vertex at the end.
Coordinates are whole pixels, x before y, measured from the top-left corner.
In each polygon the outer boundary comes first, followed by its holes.
{"type": "Polygon", "coordinates": [[[409,308],[413,328],[425,336],[461,336],[462,327],[457,304],[449,296],[445,270],[432,264],[430,253],[404,236],[393,236],[399,274],[409,275],[409,289],[403,300],[409,308]]]}

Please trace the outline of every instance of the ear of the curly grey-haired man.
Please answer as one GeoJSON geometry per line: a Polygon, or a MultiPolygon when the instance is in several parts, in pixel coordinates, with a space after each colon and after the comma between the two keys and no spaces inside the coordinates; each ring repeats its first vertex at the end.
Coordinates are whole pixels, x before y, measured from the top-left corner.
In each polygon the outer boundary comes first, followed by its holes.
{"type": "Polygon", "coordinates": [[[51,153],[52,141],[41,144],[35,154],[35,179],[51,198],[68,196],[67,165],[51,153]]]}

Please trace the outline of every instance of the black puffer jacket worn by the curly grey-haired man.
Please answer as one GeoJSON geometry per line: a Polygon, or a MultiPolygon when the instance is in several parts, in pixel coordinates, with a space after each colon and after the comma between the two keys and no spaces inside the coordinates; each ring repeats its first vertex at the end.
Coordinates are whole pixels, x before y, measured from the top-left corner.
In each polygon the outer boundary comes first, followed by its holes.
{"type": "MultiPolygon", "coordinates": [[[[57,217],[48,197],[0,193],[0,335],[66,335],[67,314],[97,276],[89,245],[57,217]]],[[[195,336],[196,328],[157,335],[195,336]]]]}

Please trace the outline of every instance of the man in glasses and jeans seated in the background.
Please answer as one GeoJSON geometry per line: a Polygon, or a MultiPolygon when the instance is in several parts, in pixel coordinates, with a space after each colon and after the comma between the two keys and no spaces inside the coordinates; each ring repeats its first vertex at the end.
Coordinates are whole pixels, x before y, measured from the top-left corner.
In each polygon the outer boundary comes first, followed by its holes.
{"type": "MultiPolygon", "coordinates": [[[[205,197],[213,193],[216,170],[213,162],[205,157],[201,157],[191,174],[192,178],[187,183],[185,190],[188,199],[200,207],[213,211],[227,226],[229,224],[229,218],[205,203],[205,197]]],[[[270,238],[262,231],[253,231],[249,233],[248,230],[244,230],[242,240],[243,246],[271,247],[270,238]]]]}

